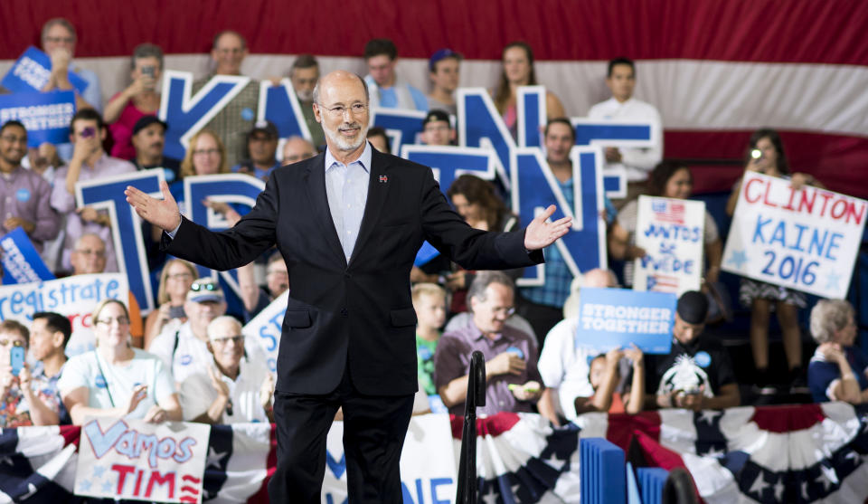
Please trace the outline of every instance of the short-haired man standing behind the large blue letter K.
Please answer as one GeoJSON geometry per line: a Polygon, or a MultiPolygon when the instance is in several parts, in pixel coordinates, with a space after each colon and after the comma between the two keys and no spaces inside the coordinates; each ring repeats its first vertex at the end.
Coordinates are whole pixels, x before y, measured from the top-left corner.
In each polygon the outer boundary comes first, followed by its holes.
{"type": "MultiPolygon", "coordinates": [[[[199,92],[214,75],[241,75],[241,63],[247,57],[247,41],[241,33],[225,30],[214,36],[211,59],[213,72],[193,82],[193,94],[199,92]]],[[[244,158],[247,136],[253,128],[259,105],[259,81],[250,80],[204,128],[211,129],[226,146],[226,163],[235,166],[244,158]]]]}

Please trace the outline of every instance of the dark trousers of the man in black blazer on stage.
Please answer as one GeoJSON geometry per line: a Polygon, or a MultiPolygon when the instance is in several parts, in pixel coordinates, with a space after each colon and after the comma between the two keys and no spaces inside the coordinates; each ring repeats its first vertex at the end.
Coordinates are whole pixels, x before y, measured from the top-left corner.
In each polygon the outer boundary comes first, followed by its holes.
{"type": "Polygon", "coordinates": [[[350,503],[395,503],[401,493],[401,447],[413,396],[363,395],[344,369],[331,394],[275,392],[278,467],[269,481],[271,502],[318,504],[325,475],[325,438],[344,408],[344,455],[350,503]]]}

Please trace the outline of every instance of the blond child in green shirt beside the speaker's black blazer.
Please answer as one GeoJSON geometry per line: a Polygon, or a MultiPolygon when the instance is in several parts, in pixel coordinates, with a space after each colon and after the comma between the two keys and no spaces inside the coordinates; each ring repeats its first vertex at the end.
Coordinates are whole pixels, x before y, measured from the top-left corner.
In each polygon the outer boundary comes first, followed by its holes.
{"type": "Polygon", "coordinates": [[[412,290],[416,309],[416,355],[419,366],[419,386],[427,395],[437,394],[434,386],[434,350],[440,339],[440,328],[446,322],[446,290],[433,283],[417,283],[412,290]]]}

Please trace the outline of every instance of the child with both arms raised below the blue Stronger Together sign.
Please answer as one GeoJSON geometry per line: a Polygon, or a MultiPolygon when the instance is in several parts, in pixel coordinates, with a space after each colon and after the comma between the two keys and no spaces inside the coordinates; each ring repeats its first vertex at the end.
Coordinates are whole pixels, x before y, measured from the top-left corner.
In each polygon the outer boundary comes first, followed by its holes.
{"type": "Polygon", "coordinates": [[[637,414],[642,411],[645,397],[645,359],[642,350],[635,345],[620,349],[613,348],[590,361],[590,385],[594,395],[576,397],[576,413],[609,412],[637,414]],[[618,366],[622,357],[627,357],[633,366],[631,383],[618,392],[621,373],[618,366]]]}

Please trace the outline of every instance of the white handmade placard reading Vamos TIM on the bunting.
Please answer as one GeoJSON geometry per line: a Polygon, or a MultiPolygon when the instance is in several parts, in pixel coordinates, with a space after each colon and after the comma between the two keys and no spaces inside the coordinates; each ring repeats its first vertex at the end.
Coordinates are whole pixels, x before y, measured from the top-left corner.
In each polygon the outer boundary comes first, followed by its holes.
{"type": "Polygon", "coordinates": [[[90,419],[81,426],[75,494],[202,502],[210,433],[203,423],[90,419]]]}

